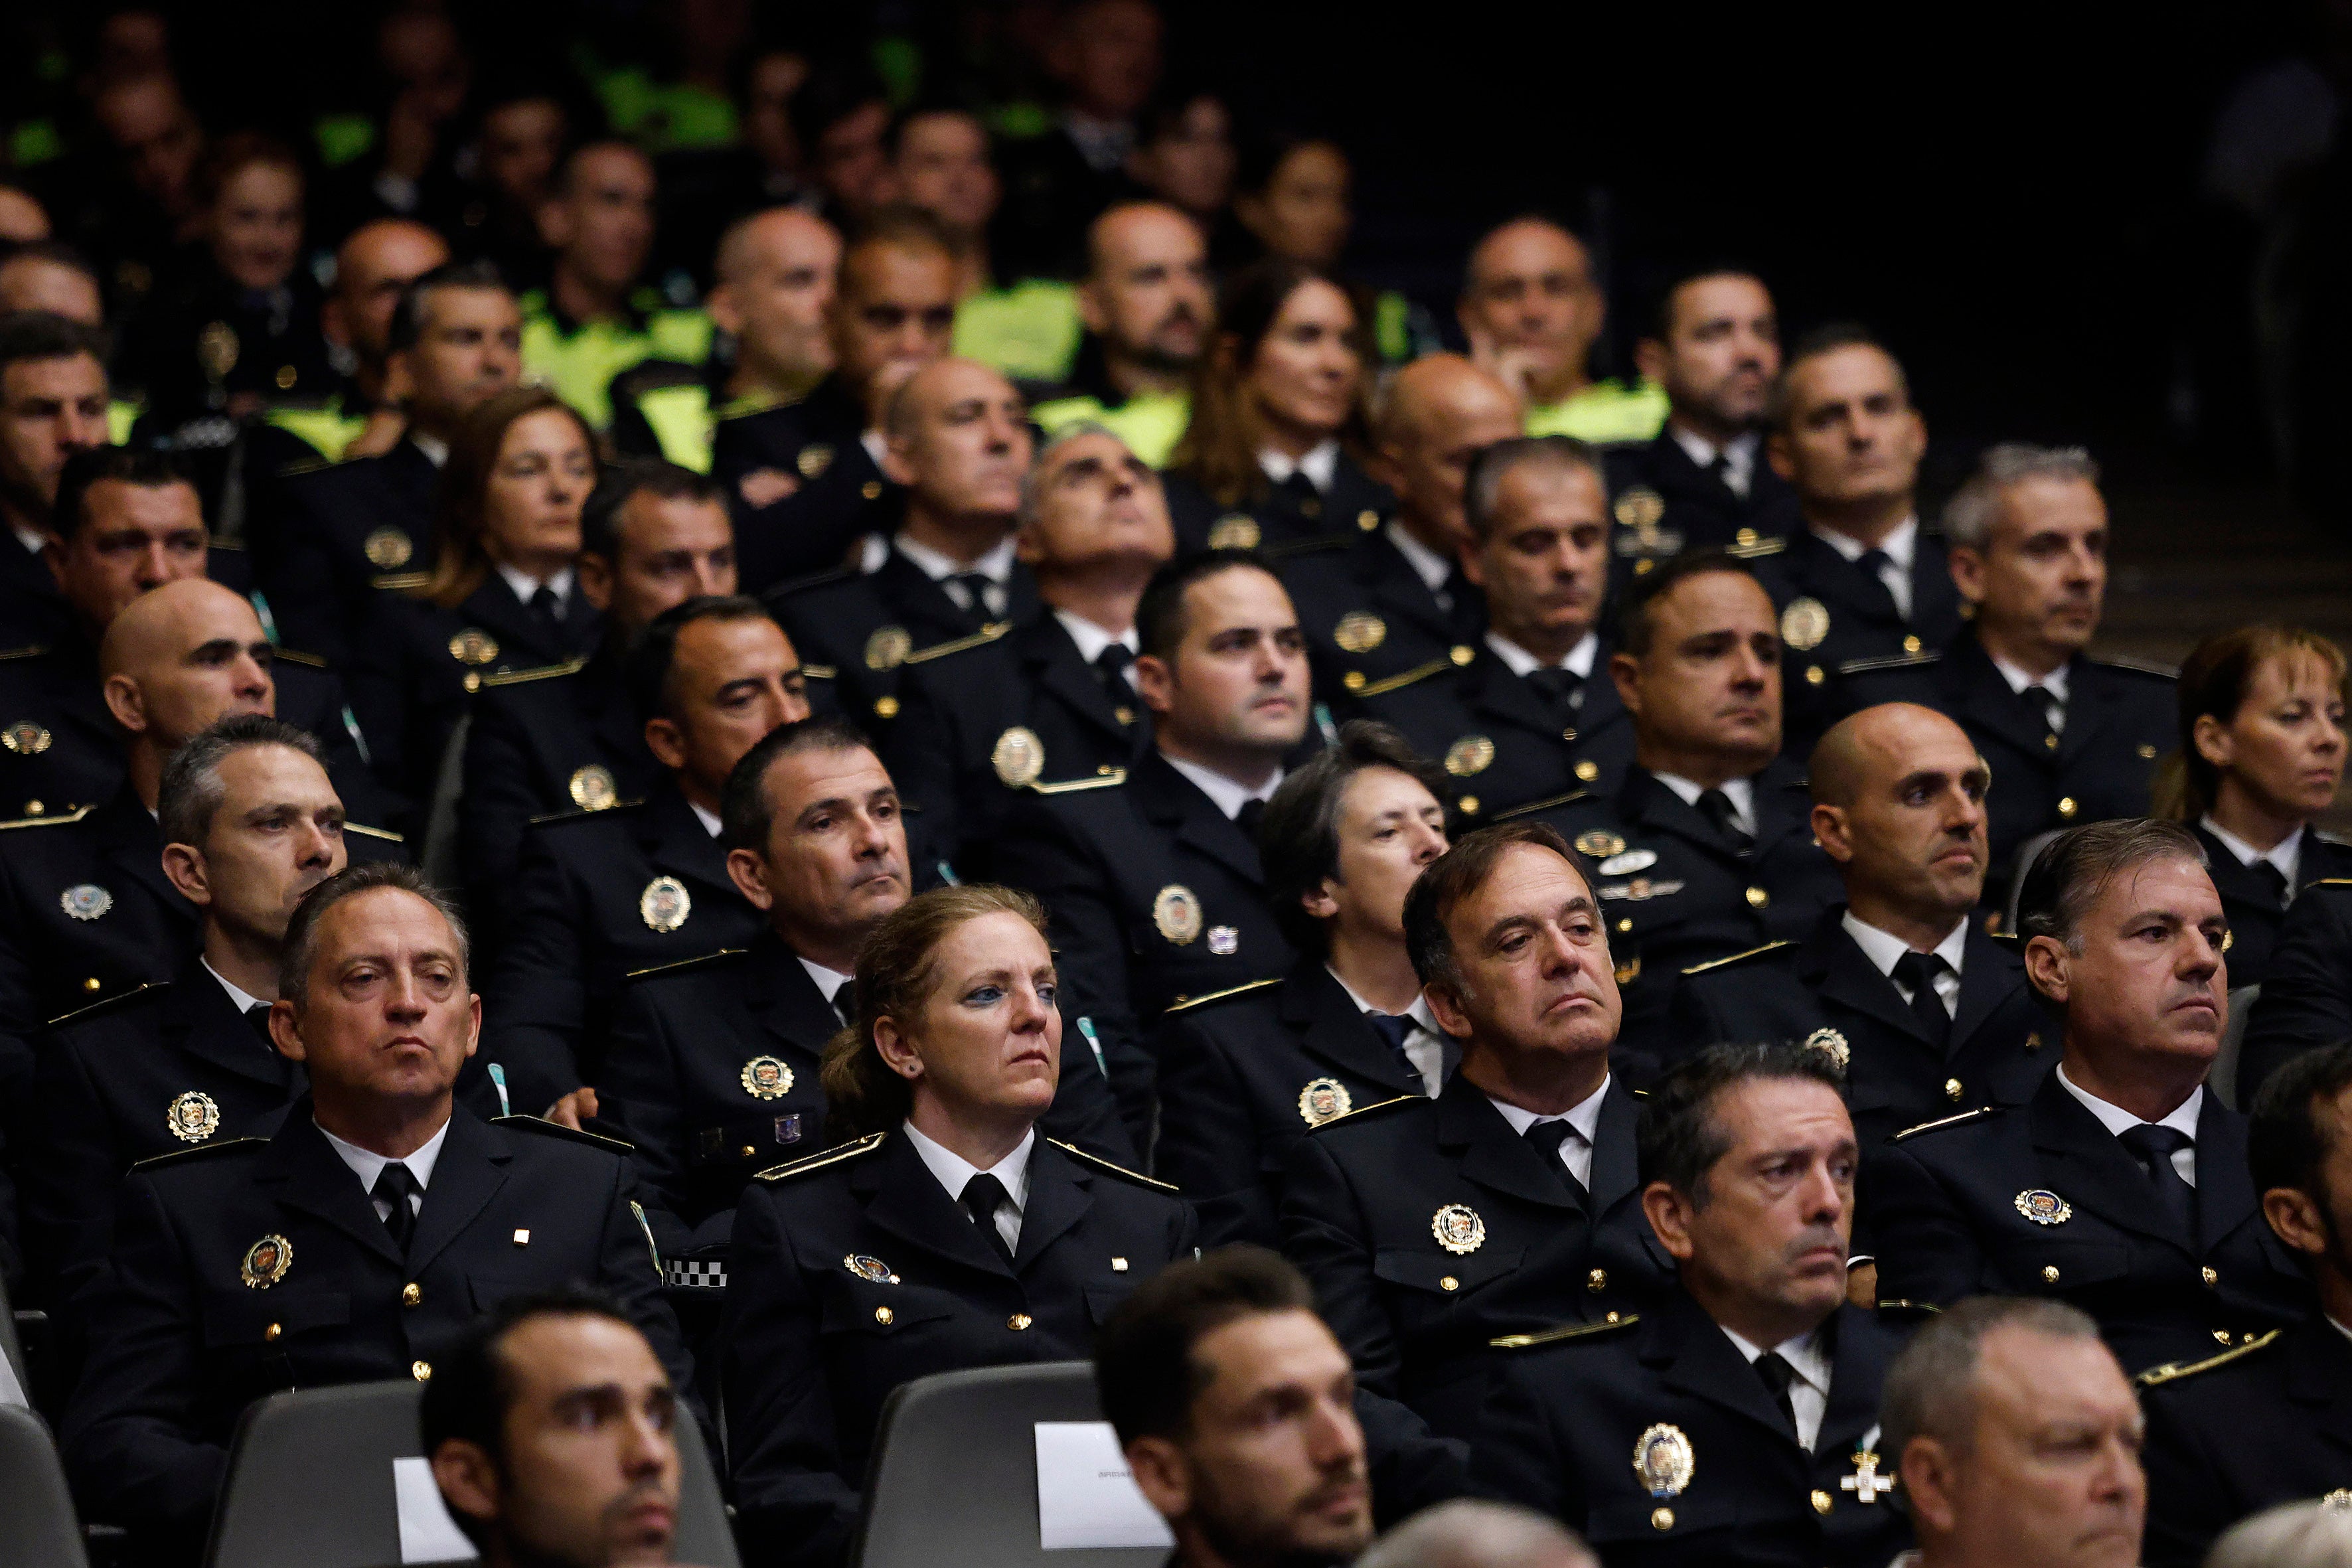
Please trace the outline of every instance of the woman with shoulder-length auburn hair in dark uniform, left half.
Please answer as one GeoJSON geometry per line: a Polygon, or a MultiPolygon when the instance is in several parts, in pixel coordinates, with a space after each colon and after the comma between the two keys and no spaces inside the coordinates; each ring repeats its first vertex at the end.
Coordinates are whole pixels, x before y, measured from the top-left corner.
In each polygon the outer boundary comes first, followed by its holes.
{"type": "Polygon", "coordinates": [[[588,421],[541,388],[499,393],[449,444],[433,571],[376,581],[350,672],[376,771],[414,797],[485,679],[595,646],[602,621],[574,571],[595,477],[588,421]]]}

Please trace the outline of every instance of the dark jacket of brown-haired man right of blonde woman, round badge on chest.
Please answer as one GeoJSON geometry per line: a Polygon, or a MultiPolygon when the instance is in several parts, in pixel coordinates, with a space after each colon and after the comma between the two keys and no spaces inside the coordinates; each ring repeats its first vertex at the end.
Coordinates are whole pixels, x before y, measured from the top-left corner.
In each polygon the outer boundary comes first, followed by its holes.
{"type": "Polygon", "coordinates": [[[1606,1321],[1665,1288],[1672,1262],[1642,1215],[1635,1114],[1611,1079],[1585,1199],[1461,1074],[1435,1100],[1364,1107],[1294,1145],[1282,1251],[1315,1284],[1357,1382],[1470,1441],[1496,1335],[1606,1321]],[[1451,1208],[1479,1220],[1468,1251],[1437,1234],[1451,1208]]]}

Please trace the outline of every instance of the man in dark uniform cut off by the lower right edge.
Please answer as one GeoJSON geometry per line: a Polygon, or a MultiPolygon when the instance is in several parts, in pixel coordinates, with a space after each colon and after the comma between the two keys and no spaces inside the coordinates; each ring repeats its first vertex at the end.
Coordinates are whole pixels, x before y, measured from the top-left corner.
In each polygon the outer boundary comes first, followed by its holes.
{"type": "Polygon", "coordinates": [[[2270,1084],[2246,1128],[2253,1190],[2312,1272],[2319,1312],[2138,1378],[2150,1568],[2197,1568],[2239,1519],[2336,1493],[2352,1474],[2352,1276],[2336,1241],[2352,1192],[2331,1175],[2347,1088],[2352,1048],[2314,1051],[2270,1084]]]}

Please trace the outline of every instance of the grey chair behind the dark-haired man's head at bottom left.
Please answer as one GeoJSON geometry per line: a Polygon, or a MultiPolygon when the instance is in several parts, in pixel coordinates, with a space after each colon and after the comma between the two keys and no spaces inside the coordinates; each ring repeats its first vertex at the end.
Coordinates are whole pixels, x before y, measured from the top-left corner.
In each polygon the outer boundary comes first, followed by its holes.
{"type": "MultiPolygon", "coordinates": [[[[423,1441],[423,1385],[270,1394],[238,1422],[212,1516],[209,1568],[383,1568],[400,1561],[393,1460],[423,1441]]],[[[677,1422],[677,1561],[741,1568],[701,1429],[677,1422]]]]}

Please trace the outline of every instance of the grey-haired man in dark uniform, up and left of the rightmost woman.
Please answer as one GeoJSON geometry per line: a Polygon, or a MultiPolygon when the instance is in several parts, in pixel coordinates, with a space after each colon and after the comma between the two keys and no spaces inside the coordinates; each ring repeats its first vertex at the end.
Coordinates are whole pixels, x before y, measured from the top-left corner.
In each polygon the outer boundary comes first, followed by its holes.
{"type": "Polygon", "coordinates": [[[1832,701],[1924,703],[1992,764],[1999,905],[2018,851],[2053,827],[2147,811],[2157,757],[2180,743],[2173,670],[2089,658],[2107,597],[2107,503],[2079,447],[1990,449],[1943,512],[1971,607],[1950,646],[1839,665],[1832,701]]]}

